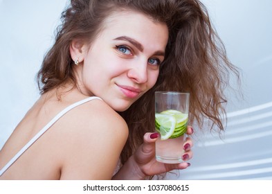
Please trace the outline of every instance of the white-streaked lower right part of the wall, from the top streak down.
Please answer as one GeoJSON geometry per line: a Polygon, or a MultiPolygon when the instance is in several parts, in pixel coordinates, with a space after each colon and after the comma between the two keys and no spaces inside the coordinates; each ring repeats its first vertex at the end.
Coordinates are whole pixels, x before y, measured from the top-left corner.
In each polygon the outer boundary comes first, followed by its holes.
{"type": "Polygon", "coordinates": [[[224,139],[197,136],[192,166],[167,179],[272,179],[272,101],[231,112],[228,121],[224,139]]]}

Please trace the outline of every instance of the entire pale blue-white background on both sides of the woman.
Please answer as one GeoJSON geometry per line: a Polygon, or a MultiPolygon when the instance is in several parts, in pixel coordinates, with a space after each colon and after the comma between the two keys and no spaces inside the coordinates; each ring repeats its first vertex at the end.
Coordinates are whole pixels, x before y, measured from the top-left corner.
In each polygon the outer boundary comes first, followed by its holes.
{"type": "MultiPolygon", "coordinates": [[[[272,179],[272,1],[203,0],[244,99],[227,91],[228,127],[197,130],[192,166],[168,179],[272,179]]],[[[0,0],[0,148],[39,98],[35,75],[53,44],[65,0],[0,0]]]]}

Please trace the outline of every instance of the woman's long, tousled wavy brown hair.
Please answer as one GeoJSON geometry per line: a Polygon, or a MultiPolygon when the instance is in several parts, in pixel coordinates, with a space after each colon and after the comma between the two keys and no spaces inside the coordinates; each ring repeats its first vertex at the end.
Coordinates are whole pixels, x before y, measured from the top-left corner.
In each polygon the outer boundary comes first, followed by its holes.
{"type": "Polygon", "coordinates": [[[69,46],[73,39],[91,44],[111,13],[133,10],[154,21],[167,24],[169,39],[165,60],[156,85],[139,98],[123,116],[129,126],[129,138],[121,154],[122,163],[143,143],[145,132],[154,130],[154,91],[190,93],[190,122],[199,127],[208,118],[210,129],[224,130],[226,96],[230,73],[239,80],[239,71],[228,61],[226,50],[198,0],[71,0],[62,12],[55,44],[46,54],[37,74],[41,94],[77,82],[69,46]]]}

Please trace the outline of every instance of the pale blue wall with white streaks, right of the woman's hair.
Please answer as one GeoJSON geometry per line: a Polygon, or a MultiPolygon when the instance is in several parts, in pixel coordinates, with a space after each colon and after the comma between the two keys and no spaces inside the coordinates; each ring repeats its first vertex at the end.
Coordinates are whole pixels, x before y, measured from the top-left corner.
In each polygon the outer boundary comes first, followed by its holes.
{"type": "Polygon", "coordinates": [[[272,179],[272,1],[202,2],[242,69],[244,100],[229,93],[222,139],[197,131],[192,166],[169,179],[272,179]]]}

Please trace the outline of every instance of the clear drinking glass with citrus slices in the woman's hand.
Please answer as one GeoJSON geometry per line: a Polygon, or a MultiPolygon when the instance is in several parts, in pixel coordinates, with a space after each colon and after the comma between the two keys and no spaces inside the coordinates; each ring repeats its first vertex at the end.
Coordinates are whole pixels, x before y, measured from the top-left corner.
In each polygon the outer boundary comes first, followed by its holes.
{"type": "Polygon", "coordinates": [[[156,141],[156,160],[166,164],[183,161],[183,143],[187,131],[189,93],[155,92],[155,126],[160,137],[156,141]]]}

